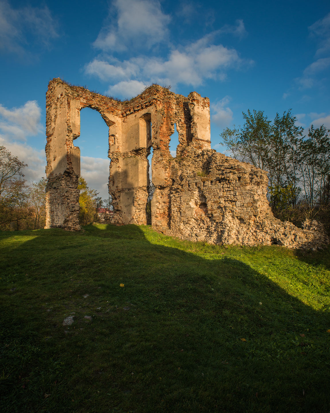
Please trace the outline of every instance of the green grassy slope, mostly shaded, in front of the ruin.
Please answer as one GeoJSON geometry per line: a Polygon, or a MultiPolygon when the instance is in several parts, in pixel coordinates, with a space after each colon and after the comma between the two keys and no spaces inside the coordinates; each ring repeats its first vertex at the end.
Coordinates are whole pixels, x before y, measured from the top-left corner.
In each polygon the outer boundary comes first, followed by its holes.
{"type": "Polygon", "coordinates": [[[0,248],[1,412],[330,411],[329,249],[135,225],[0,248]]]}

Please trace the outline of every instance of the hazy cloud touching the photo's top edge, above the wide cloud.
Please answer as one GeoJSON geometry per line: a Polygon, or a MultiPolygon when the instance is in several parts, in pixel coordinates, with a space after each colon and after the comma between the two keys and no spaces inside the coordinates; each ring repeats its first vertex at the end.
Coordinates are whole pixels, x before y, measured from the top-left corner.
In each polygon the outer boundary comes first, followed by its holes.
{"type": "Polygon", "coordinates": [[[114,0],[110,20],[101,30],[94,47],[103,51],[123,51],[134,46],[150,49],[166,41],[170,16],[161,10],[157,0],[114,0]],[[117,14],[117,19],[112,18],[117,14]]]}

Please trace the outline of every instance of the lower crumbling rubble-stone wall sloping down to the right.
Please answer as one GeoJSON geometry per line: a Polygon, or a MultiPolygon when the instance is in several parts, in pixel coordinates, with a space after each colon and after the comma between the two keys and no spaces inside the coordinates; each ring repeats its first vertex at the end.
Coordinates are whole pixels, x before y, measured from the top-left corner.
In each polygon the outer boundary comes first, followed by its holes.
{"type": "Polygon", "coordinates": [[[300,229],[273,216],[267,173],[250,164],[214,150],[187,148],[173,164],[172,177],[170,235],[211,244],[303,249],[328,244],[316,221],[300,229]]]}

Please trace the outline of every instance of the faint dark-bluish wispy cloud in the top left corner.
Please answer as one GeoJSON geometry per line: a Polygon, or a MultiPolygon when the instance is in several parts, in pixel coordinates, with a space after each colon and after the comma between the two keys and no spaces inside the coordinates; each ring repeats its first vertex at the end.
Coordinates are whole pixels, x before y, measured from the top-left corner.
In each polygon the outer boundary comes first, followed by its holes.
{"type": "Polygon", "coordinates": [[[49,45],[58,37],[56,23],[47,6],[21,7],[14,9],[5,0],[0,0],[0,51],[26,55],[24,47],[33,42],[49,45]]]}

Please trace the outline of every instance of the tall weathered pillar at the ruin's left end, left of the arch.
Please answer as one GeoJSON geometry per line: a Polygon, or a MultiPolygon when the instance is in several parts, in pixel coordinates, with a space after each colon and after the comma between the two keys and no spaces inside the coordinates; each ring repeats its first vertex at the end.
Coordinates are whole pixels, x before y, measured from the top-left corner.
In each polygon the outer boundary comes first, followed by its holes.
{"type": "Polygon", "coordinates": [[[80,134],[80,102],[70,98],[66,87],[55,79],[46,94],[46,228],[80,230],[80,149],[73,145],[80,134]]]}

